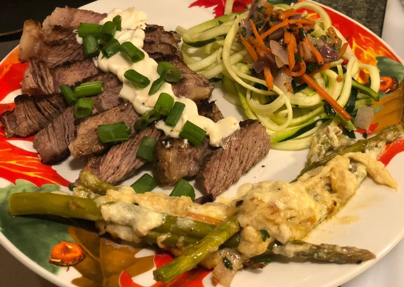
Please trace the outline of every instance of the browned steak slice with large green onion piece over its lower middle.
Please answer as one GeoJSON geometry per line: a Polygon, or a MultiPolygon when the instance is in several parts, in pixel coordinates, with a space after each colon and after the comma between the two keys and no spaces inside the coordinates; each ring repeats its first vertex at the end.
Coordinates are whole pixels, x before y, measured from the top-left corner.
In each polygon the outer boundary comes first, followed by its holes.
{"type": "MultiPolygon", "coordinates": [[[[76,127],[77,136],[69,144],[70,153],[74,157],[102,153],[111,145],[102,143],[99,139],[98,125],[124,121],[126,125],[133,126],[139,117],[132,104],[120,104],[119,106],[85,118],[76,127]]],[[[132,129],[133,134],[135,134],[135,129],[132,129]]]]}

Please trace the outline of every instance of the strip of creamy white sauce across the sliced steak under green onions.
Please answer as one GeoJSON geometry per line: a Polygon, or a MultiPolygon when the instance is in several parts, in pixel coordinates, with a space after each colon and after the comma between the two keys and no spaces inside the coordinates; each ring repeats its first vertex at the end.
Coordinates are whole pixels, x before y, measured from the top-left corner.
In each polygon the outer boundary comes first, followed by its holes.
{"type": "MultiPolygon", "coordinates": [[[[123,87],[120,91],[120,97],[133,104],[137,113],[143,115],[146,111],[154,108],[156,101],[161,93],[167,93],[174,98],[176,102],[185,104],[185,109],[175,127],[170,127],[160,120],[156,123],[156,128],[162,130],[167,136],[179,138],[179,133],[186,121],[194,123],[198,127],[206,130],[206,136],[210,138],[210,145],[220,147],[223,139],[233,134],[240,128],[238,121],[235,117],[226,117],[217,121],[216,123],[207,117],[198,115],[198,108],[194,101],[184,98],[176,97],[173,89],[169,83],[164,82],[162,87],[153,95],[148,94],[151,84],[160,77],[157,72],[157,62],[151,59],[149,55],[143,51],[143,40],[145,32],[145,21],[147,14],[143,11],[136,10],[131,7],[124,11],[120,9],[113,9],[108,13],[108,16],[100,21],[104,24],[107,21],[112,21],[116,16],[122,17],[122,31],[116,31],[115,38],[119,43],[129,41],[139,48],[144,54],[145,58],[137,63],[130,62],[121,53],[116,53],[112,57],[103,57],[100,53],[95,64],[104,72],[112,72],[122,81],[123,87]],[[150,80],[150,84],[145,88],[139,88],[124,77],[126,70],[133,69],[150,80]]],[[[82,43],[82,38],[76,36],[78,43],[82,43]]]]}

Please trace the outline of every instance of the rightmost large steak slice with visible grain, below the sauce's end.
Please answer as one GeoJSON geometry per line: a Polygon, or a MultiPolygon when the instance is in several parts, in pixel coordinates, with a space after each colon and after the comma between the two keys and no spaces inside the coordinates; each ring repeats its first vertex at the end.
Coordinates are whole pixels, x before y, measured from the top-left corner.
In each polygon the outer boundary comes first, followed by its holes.
{"type": "Polygon", "coordinates": [[[223,146],[205,158],[196,183],[205,193],[218,196],[269,152],[269,136],[257,120],[240,122],[240,130],[223,140],[223,146]]]}

